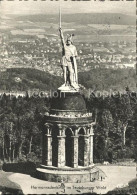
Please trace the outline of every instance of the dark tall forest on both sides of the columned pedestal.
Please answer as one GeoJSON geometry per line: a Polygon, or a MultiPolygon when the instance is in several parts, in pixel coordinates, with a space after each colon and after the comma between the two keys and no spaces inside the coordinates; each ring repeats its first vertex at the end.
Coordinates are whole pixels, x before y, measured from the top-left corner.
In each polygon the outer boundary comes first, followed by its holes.
{"type": "MultiPolygon", "coordinates": [[[[137,94],[85,97],[94,126],[94,162],[137,160],[137,94]]],[[[47,97],[0,96],[0,160],[41,162],[42,118],[47,97]]]]}

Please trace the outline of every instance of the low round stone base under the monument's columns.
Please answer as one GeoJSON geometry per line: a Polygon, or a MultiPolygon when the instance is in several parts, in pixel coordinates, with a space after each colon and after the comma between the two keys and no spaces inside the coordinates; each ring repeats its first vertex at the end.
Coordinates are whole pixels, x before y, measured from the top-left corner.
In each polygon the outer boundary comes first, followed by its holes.
{"type": "Polygon", "coordinates": [[[99,179],[99,169],[94,165],[78,168],[41,165],[36,170],[36,177],[49,182],[85,183],[99,179]]]}

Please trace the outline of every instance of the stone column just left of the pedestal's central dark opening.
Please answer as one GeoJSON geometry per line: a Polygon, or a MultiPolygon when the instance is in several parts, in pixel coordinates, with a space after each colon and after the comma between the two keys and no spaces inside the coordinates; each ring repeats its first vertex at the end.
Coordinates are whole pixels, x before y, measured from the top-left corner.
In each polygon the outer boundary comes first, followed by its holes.
{"type": "Polygon", "coordinates": [[[65,166],[65,137],[66,136],[57,136],[58,137],[58,167],[65,166]]]}

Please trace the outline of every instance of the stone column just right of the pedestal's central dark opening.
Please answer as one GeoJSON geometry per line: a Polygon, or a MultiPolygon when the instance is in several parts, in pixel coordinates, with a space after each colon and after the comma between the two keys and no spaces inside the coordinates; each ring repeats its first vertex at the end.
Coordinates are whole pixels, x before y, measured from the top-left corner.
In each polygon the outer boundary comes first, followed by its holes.
{"type": "Polygon", "coordinates": [[[78,167],[78,136],[72,136],[72,167],[78,167]]]}

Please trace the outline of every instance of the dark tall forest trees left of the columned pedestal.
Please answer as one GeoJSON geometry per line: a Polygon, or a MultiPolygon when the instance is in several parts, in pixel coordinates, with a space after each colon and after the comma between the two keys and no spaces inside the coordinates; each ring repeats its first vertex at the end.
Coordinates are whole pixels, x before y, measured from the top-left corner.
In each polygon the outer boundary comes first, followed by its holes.
{"type": "MultiPolygon", "coordinates": [[[[48,102],[48,101],[47,101],[48,102]]],[[[25,161],[34,154],[41,156],[41,115],[48,109],[45,99],[0,98],[0,159],[5,162],[25,161]]]]}

